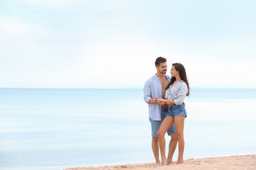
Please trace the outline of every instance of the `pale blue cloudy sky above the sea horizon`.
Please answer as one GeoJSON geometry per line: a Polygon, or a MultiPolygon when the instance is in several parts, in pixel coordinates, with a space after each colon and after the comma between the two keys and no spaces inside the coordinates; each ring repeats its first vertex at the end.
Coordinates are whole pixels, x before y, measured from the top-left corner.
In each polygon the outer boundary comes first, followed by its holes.
{"type": "Polygon", "coordinates": [[[0,88],[256,88],[256,1],[0,0],[0,88]]]}

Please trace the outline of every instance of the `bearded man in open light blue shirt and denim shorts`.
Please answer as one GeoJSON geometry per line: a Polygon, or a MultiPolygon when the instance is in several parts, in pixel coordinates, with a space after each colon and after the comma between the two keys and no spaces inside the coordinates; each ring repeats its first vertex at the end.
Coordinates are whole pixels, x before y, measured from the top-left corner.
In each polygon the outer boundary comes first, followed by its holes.
{"type": "MultiPolygon", "coordinates": [[[[158,57],[155,61],[156,65],[156,74],[146,80],[144,84],[144,101],[148,103],[148,114],[152,130],[152,151],[156,159],[156,164],[170,164],[173,163],[173,154],[177,146],[177,137],[175,135],[175,126],[173,126],[167,131],[168,135],[171,135],[171,141],[169,143],[169,153],[168,153],[168,162],[167,158],[159,158],[159,144],[158,144],[158,129],[161,126],[163,118],[167,112],[166,103],[157,103],[154,101],[155,97],[165,98],[165,88],[171,80],[171,76],[166,75],[167,71],[167,59],[158,57]]],[[[164,153],[165,155],[165,153],[164,153]]]]}

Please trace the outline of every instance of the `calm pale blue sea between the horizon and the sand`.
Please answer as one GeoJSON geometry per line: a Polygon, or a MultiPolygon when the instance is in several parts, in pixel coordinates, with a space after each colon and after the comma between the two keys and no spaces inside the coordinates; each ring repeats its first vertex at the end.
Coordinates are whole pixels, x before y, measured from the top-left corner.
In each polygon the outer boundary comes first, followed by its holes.
{"type": "MultiPolygon", "coordinates": [[[[255,89],[192,89],[185,103],[185,160],[256,154],[255,89]]],[[[152,161],[142,89],[0,88],[0,169],[152,161]]]]}

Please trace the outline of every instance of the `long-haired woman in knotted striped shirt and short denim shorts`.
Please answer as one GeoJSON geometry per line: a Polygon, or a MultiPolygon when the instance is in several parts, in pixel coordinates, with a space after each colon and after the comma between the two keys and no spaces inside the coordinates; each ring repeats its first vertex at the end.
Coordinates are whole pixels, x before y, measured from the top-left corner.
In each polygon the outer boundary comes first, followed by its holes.
{"type": "Polygon", "coordinates": [[[181,63],[173,63],[171,68],[171,82],[169,82],[166,91],[165,99],[155,98],[158,103],[164,102],[169,106],[167,116],[165,116],[158,130],[158,140],[160,144],[160,152],[162,163],[167,165],[174,163],[169,156],[165,158],[165,133],[175,123],[176,135],[179,143],[179,156],[177,163],[184,163],[184,120],[186,118],[186,110],[182,105],[186,96],[189,95],[189,84],[186,78],[186,70],[181,63]],[[165,159],[165,160],[164,160],[165,159]]]}

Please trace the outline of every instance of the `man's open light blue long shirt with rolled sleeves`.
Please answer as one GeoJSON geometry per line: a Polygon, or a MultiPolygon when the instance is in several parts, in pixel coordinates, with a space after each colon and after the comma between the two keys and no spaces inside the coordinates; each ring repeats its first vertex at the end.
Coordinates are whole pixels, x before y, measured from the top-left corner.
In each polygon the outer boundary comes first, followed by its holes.
{"type": "MultiPolygon", "coordinates": [[[[171,76],[165,75],[167,80],[171,80],[171,76]]],[[[148,101],[155,97],[161,98],[162,96],[162,89],[161,89],[161,82],[158,76],[154,75],[148,80],[146,80],[143,88],[144,92],[144,101],[148,103],[148,101]]],[[[152,120],[161,120],[161,105],[160,104],[149,104],[148,103],[148,115],[149,118],[152,120]]]]}

